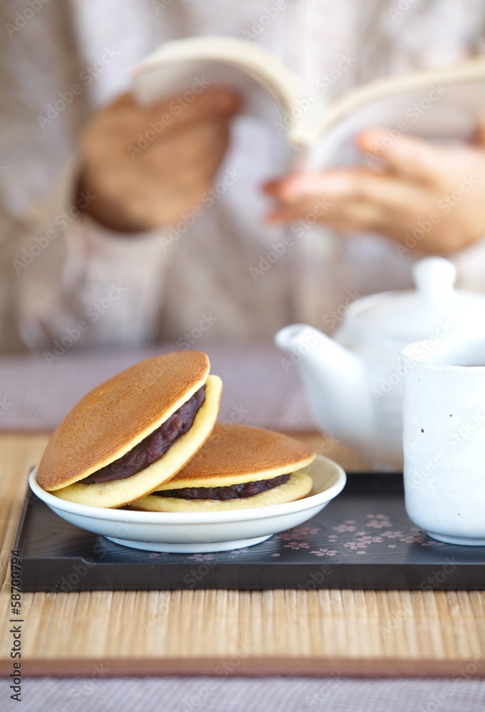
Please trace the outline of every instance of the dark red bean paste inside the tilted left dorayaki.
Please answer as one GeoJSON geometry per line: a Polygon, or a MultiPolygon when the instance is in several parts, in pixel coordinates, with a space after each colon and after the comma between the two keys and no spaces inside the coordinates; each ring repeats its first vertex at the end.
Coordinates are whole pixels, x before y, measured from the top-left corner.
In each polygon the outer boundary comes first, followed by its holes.
{"type": "Polygon", "coordinates": [[[100,470],[85,477],[81,482],[91,485],[99,482],[125,480],[159,460],[176,440],[192,427],[197,411],[205,400],[205,384],[183,403],[159,428],[147,435],[125,455],[100,470]]]}

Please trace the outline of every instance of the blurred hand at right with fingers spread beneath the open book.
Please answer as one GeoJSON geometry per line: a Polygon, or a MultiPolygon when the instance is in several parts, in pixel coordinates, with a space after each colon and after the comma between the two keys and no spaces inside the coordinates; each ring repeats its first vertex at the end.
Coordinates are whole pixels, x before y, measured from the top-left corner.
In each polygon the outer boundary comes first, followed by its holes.
{"type": "Polygon", "coordinates": [[[318,220],[340,231],[379,232],[404,251],[459,250],[485,235],[484,146],[483,129],[476,145],[452,146],[405,135],[392,141],[386,130],[368,130],[358,147],[372,168],[294,173],[268,183],[265,192],[276,199],[269,219],[305,219],[320,199],[328,209],[318,220]]]}

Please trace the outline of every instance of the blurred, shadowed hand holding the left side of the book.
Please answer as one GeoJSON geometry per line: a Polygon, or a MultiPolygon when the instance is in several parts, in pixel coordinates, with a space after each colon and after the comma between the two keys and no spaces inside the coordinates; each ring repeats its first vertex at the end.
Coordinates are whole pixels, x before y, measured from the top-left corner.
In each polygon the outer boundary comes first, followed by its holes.
{"type": "Polygon", "coordinates": [[[124,94],[98,111],[80,141],[79,187],[95,196],[85,210],[117,231],[177,221],[211,186],[238,104],[214,88],[148,107],[124,94]]]}

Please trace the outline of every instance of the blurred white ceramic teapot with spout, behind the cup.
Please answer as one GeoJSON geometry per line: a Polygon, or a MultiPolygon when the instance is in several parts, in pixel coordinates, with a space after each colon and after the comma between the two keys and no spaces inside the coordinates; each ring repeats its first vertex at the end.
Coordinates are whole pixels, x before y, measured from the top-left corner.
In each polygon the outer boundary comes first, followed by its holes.
{"type": "Polygon", "coordinates": [[[402,466],[399,352],[414,341],[485,336],[485,294],[454,289],[456,268],[441,257],[414,265],[416,290],[355,301],[330,338],[304,324],[276,334],[298,365],[316,424],[378,469],[402,466]]]}

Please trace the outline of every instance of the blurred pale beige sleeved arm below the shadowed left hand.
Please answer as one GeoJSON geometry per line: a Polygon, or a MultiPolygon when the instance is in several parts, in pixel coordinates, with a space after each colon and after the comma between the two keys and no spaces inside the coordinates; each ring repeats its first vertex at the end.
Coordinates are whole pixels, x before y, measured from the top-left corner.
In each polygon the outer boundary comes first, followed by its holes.
{"type": "MultiPolygon", "coordinates": [[[[56,341],[78,345],[137,343],[157,335],[170,250],[161,230],[120,234],[75,204],[75,166],[48,199],[10,226],[9,271],[14,321],[31,350],[56,341]]],[[[61,351],[61,348],[58,348],[61,351]]]]}

